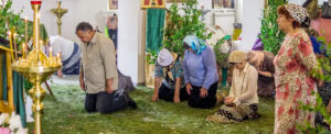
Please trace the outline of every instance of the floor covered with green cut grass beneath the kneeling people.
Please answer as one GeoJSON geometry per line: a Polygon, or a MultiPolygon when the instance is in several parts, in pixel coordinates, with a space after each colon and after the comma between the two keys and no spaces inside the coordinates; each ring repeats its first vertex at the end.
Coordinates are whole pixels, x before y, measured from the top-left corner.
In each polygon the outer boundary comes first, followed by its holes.
{"type": "MultiPolygon", "coordinates": [[[[84,110],[84,92],[78,86],[53,85],[54,98],[46,96],[42,131],[44,134],[178,134],[178,133],[222,133],[265,134],[274,130],[274,100],[260,98],[261,118],[235,124],[217,124],[205,118],[217,111],[214,109],[192,109],[186,101],[174,104],[166,101],[151,102],[152,89],[138,87],[130,92],[138,109],[127,108],[108,115],[88,114],[84,110]]],[[[29,123],[29,132],[34,123],[29,123]]]]}

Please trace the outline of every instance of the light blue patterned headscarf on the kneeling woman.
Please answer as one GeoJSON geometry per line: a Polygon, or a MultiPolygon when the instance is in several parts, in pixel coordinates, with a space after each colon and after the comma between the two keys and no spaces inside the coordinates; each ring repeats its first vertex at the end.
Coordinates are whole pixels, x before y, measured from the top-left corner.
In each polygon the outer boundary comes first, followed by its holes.
{"type": "Polygon", "coordinates": [[[201,54],[206,48],[204,41],[194,35],[185,36],[183,43],[186,43],[196,54],[201,54]]]}

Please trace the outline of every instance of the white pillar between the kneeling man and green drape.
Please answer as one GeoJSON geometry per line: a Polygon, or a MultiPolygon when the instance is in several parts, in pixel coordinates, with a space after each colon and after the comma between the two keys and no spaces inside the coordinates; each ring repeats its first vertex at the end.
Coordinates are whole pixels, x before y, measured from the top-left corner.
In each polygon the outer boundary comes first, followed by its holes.
{"type": "Polygon", "coordinates": [[[138,82],[139,0],[118,1],[118,68],[138,82]]]}

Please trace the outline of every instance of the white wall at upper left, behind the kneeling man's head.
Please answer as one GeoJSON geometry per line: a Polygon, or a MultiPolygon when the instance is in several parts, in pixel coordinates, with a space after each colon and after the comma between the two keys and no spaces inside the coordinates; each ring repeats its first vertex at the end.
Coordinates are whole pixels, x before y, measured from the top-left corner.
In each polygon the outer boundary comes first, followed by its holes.
{"type": "MultiPolygon", "coordinates": [[[[57,8],[56,0],[43,0],[40,10],[41,23],[46,27],[49,35],[57,35],[57,18],[51,9],[57,8]]],[[[76,25],[82,21],[96,20],[100,11],[107,11],[107,0],[62,0],[62,8],[68,12],[62,18],[62,36],[78,43],[75,35],[76,25]]],[[[13,0],[12,10],[19,12],[23,9],[22,18],[28,16],[33,20],[33,11],[30,0],[13,0]]]]}

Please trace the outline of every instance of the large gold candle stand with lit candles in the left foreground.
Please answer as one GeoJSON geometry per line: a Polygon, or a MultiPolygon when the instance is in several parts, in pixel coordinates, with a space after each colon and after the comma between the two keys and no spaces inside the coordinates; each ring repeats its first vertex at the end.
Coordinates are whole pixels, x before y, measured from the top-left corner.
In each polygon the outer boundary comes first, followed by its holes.
{"type": "MultiPolygon", "coordinates": [[[[24,55],[24,45],[23,45],[23,56],[19,60],[13,62],[13,70],[21,74],[30,82],[33,83],[32,89],[29,93],[32,97],[33,105],[32,110],[34,112],[35,120],[35,133],[41,134],[41,116],[44,109],[42,100],[45,94],[45,90],[41,87],[41,83],[44,82],[49,76],[54,74],[61,66],[60,54],[53,56],[50,53],[50,56],[46,56],[41,51],[42,42],[40,42],[40,14],[39,10],[41,8],[41,0],[31,0],[31,7],[33,9],[33,51],[30,52],[26,57],[24,55]]],[[[25,35],[26,36],[26,35],[25,35]]]]}

